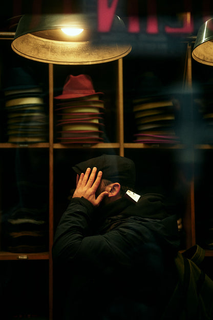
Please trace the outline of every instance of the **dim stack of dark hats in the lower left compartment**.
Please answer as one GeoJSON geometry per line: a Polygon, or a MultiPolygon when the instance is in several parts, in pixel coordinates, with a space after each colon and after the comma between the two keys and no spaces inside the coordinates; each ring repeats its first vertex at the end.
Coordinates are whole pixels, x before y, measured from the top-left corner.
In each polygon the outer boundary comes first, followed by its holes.
{"type": "MultiPolygon", "coordinates": [[[[43,153],[37,153],[42,155],[43,153]]],[[[2,210],[2,247],[10,252],[48,250],[49,184],[48,158],[32,156],[31,149],[15,150],[16,180],[10,184],[13,197],[2,210]],[[26,152],[23,152],[26,151],[26,152]],[[36,195],[36,196],[35,196],[36,195]]]]}

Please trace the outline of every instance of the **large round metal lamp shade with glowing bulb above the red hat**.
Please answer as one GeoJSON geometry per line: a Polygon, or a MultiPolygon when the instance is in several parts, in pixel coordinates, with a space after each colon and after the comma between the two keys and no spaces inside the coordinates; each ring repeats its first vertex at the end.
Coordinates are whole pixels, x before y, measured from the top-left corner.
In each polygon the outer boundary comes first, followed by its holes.
{"type": "Polygon", "coordinates": [[[117,43],[115,35],[124,31],[123,21],[115,15],[112,41],[97,32],[97,18],[84,14],[23,15],[12,42],[17,54],[39,62],[64,65],[89,65],[114,61],[127,55],[132,47],[117,43]],[[69,36],[62,28],[81,28],[69,36]]]}

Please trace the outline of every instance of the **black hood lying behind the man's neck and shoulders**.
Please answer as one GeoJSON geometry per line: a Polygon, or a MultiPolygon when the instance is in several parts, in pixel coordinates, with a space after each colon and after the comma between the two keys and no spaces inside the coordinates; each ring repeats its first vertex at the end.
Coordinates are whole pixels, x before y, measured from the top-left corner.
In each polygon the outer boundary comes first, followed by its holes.
{"type": "Polygon", "coordinates": [[[169,250],[176,250],[180,246],[177,215],[161,194],[144,194],[136,204],[120,198],[105,206],[101,215],[103,223],[100,233],[110,231],[123,223],[135,222],[151,230],[158,241],[169,247],[169,250]]]}

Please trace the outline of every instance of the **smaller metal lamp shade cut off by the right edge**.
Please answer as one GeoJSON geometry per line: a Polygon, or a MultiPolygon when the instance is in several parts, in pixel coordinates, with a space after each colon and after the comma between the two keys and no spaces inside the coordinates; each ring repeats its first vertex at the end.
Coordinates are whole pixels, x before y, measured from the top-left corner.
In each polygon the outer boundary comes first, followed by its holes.
{"type": "Polygon", "coordinates": [[[213,66],[213,18],[199,28],[192,56],[204,65],[213,66]]]}

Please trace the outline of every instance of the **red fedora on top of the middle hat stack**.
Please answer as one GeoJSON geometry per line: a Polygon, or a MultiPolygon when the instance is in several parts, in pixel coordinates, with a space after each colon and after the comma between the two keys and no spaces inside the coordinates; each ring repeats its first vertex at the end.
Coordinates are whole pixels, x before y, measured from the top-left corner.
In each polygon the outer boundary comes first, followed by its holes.
{"type": "Polygon", "coordinates": [[[55,99],[71,99],[94,94],[103,94],[102,92],[95,92],[93,82],[89,75],[68,75],[61,95],[55,99]]]}

